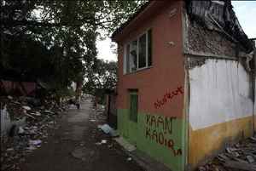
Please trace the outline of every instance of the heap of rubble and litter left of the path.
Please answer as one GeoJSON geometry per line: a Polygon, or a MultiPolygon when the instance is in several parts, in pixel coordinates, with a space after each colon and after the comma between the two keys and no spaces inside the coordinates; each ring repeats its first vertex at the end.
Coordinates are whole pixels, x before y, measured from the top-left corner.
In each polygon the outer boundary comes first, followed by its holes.
{"type": "Polygon", "coordinates": [[[25,156],[46,143],[49,129],[59,127],[56,119],[61,117],[66,105],[11,96],[0,97],[0,102],[1,170],[20,170],[19,164],[25,161],[25,156]]]}

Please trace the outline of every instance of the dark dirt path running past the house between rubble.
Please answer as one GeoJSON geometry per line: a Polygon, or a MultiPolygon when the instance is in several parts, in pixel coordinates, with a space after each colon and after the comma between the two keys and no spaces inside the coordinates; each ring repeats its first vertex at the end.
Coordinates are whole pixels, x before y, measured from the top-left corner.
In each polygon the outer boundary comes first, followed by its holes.
{"type": "Polygon", "coordinates": [[[84,101],[81,109],[70,109],[61,118],[60,128],[48,142],[34,151],[22,171],[143,171],[108,135],[97,129],[101,116],[84,101]],[[106,144],[97,142],[107,140],[106,144]]]}

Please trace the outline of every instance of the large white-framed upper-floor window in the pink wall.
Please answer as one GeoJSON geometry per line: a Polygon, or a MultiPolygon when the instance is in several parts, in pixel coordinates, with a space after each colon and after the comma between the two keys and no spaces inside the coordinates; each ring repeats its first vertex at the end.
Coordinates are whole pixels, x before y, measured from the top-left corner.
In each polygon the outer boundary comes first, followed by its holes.
{"type": "Polygon", "coordinates": [[[125,45],[124,73],[152,66],[152,31],[125,45]]]}

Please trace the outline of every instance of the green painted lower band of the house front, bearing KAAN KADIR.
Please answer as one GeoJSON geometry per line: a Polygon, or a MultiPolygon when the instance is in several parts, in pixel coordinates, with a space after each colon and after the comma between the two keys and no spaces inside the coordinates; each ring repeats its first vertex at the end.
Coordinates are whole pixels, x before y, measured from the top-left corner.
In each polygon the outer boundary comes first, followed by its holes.
{"type": "Polygon", "coordinates": [[[181,118],[138,112],[137,123],[130,120],[129,110],[118,110],[119,134],[137,149],[163,162],[173,171],[185,166],[185,122],[181,118]]]}

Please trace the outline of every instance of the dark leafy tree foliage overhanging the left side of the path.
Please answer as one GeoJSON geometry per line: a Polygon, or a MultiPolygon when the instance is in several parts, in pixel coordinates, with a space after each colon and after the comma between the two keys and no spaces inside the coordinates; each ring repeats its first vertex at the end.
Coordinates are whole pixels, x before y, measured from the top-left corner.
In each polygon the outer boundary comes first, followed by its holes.
{"type": "Polygon", "coordinates": [[[96,38],[100,30],[110,34],[143,3],[3,0],[0,77],[40,79],[65,89],[85,76],[96,88],[113,88],[116,64],[96,60],[96,38]]]}

